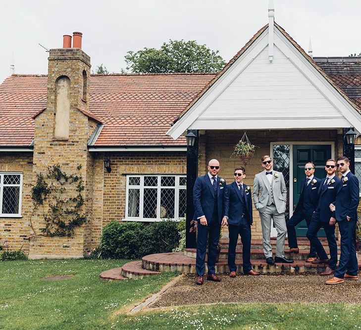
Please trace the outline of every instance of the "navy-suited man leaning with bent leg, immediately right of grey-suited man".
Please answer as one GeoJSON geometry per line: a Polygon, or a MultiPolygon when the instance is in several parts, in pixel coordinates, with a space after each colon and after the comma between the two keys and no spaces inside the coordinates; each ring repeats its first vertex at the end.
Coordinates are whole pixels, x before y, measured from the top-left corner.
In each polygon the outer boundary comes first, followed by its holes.
{"type": "MultiPolygon", "coordinates": [[[[306,220],[307,227],[311,223],[311,217],[314,209],[317,206],[318,201],[318,187],[320,179],[316,178],[314,173],[314,164],[308,162],[305,165],[305,174],[306,179],[302,182],[301,185],[301,195],[297,203],[296,209],[293,212],[293,215],[290,220],[286,222],[287,234],[288,234],[288,250],[285,250],[285,253],[299,253],[300,250],[297,245],[297,236],[295,226],[298,225],[302,220],[306,220]]],[[[309,256],[306,262],[312,262],[317,260],[316,249],[310,244],[309,247],[309,256]]]]}

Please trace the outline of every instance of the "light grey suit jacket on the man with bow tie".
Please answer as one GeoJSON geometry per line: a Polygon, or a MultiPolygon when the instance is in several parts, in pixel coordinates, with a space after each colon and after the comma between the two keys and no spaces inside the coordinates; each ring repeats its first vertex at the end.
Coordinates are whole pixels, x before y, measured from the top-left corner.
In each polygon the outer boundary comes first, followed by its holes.
{"type": "MultiPolygon", "coordinates": [[[[281,172],[273,170],[272,191],[274,203],[278,213],[284,213],[286,210],[287,189],[285,179],[281,172]],[[275,175],[278,176],[275,178],[275,175]]],[[[253,202],[256,209],[263,213],[271,193],[270,184],[266,178],[265,171],[256,174],[255,181],[253,182],[253,202]]]]}

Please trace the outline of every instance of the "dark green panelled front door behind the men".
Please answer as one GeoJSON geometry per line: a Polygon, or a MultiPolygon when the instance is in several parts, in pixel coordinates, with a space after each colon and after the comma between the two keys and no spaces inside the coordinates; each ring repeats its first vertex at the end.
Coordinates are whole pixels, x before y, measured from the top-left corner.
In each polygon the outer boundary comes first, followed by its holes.
{"type": "MultiPolygon", "coordinates": [[[[326,176],[324,170],[325,162],[331,158],[331,145],[293,145],[293,210],[300,199],[302,181],[305,181],[305,164],[309,161],[315,166],[314,176],[322,179],[326,176]]],[[[303,220],[296,227],[297,236],[306,236],[307,224],[303,220]]],[[[321,229],[318,236],[324,237],[325,232],[321,229]]]]}

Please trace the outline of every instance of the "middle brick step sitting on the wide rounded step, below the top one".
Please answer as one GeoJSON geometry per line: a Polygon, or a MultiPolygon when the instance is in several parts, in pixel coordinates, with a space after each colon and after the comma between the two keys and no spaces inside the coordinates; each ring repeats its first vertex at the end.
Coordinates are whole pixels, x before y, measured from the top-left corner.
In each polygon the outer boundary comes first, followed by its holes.
{"type": "MultiPolygon", "coordinates": [[[[329,254],[329,250],[325,249],[326,253],[329,254]]],[[[340,254],[340,251],[338,251],[340,254]]],[[[276,249],[272,249],[273,256],[276,254],[276,249]]],[[[185,249],[184,255],[190,258],[196,258],[197,250],[196,249],[185,249]]],[[[286,257],[292,257],[293,260],[307,260],[309,257],[309,249],[301,250],[299,253],[286,253],[286,257]]],[[[219,260],[228,258],[228,249],[221,249],[219,254],[219,260]]],[[[240,248],[236,248],[236,260],[242,259],[242,246],[240,248]]],[[[263,249],[261,248],[251,248],[251,259],[262,259],[264,258],[263,249]]]]}

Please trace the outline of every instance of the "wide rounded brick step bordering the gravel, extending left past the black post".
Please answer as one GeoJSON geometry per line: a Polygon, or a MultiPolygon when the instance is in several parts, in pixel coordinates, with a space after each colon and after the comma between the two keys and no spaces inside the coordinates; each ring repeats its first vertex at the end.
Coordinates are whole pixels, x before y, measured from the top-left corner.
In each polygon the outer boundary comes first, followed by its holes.
{"type": "MultiPolygon", "coordinates": [[[[358,256],[359,270],[361,270],[361,256],[358,256]]],[[[242,272],[242,260],[237,260],[236,265],[239,272],[242,272]]],[[[304,260],[295,260],[292,264],[277,263],[269,266],[264,258],[252,260],[253,269],[262,274],[267,273],[318,273],[326,268],[326,265],[312,265],[304,260]]],[[[182,272],[196,273],[196,259],[187,257],[183,252],[156,253],[142,258],[142,267],[157,272],[182,272]]],[[[217,273],[228,273],[227,260],[219,260],[216,264],[217,273]]]]}

